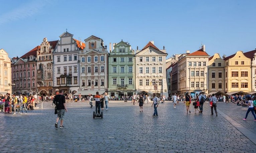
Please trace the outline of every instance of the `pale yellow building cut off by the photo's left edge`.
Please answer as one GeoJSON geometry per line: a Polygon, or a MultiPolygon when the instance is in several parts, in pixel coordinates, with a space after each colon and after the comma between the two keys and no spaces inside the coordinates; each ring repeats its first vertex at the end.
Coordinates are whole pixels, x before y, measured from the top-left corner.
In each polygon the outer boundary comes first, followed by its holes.
{"type": "Polygon", "coordinates": [[[0,49],[0,93],[12,92],[11,59],[5,50],[0,49]]]}

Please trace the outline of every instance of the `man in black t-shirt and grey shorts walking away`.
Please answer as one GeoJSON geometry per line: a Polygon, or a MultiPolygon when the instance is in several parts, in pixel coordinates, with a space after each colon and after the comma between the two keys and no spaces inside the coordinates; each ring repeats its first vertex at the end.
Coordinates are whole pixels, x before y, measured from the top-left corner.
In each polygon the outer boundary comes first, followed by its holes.
{"type": "Polygon", "coordinates": [[[59,94],[54,97],[53,103],[56,105],[56,110],[57,110],[55,127],[58,128],[58,121],[60,119],[59,128],[64,128],[63,126],[64,116],[65,116],[65,112],[67,112],[68,109],[66,107],[66,99],[65,99],[65,96],[63,95],[63,90],[59,90],[59,94]]]}

